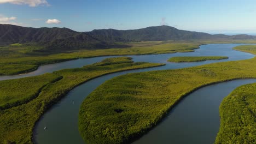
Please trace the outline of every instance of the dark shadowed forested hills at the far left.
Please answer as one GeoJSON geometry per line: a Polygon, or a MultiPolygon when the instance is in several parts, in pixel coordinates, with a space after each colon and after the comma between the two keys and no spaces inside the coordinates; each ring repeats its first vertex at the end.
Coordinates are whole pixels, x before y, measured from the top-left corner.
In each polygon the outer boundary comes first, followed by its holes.
{"type": "Polygon", "coordinates": [[[85,49],[103,47],[106,43],[92,38],[83,32],[75,32],[68,28],[31,28],[14,25],[0,25],[0,44],[36,43],[48,49],[85,49]]]}

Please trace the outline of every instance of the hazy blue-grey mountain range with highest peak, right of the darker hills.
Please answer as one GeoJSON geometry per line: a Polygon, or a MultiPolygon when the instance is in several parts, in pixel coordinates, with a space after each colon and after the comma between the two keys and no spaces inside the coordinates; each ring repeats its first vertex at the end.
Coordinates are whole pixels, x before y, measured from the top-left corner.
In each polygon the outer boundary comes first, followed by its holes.
{"type": "Polygon", "coordinates": [[[135,30],[96,29],[87,32],[104,41],[163,41],[163,40],[208,40],[208,39],[255,39],[252,35],[224,35],[183,31],[170,26],[147,27],[135,30]]]}

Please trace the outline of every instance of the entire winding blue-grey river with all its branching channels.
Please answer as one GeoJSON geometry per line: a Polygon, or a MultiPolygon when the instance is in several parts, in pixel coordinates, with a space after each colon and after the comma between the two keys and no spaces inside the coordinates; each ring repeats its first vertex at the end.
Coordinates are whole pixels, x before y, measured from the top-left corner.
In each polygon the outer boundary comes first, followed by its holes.
{"type": "MultiPolygon", "coordinates": [[[[34,127],[33,140],[36,143],[85,143],[78,131],[79,107],[83,100],[104,81],[127,73],[186,68],[254,57],[250,53],[232,50],[233,47],[238,45],[243,44],[208,44],[200,46],[200,49],[196,49],[194,52],[130,56],[135,62],[166,63],[166,65],[104,75],[72,89],[65,98],[43,115],[36,127],[34,127]],[[195,63],[167,62],[168,58],[174,56],[228,56],[229,59],[195,63]],[[73,101],[74,104],[72,104],[73,101]],[[46,130],[44,130],[45,124],[48,127],[46,130]]],[[[43,65],[31,73],[0,76],[0,80],[18,79],[20,77],[51,73],[65,68],[83,67],[83,65],[100,62],[102,59],[108,57],[115,56],[75,59],[67,62],[43,65]]],[[[173,108],[164,121],[134,143],[166,143],[170,139],[174,143],[213,143],[219,129],[218,107],[223,97],[228,95],[237,86],[252,82],[256,82],[256,80],[235,80],[200,88],[194,93],[189,94],[188,97],[185,97],[185,99],[173,108]],[[219,89],[223,89],[223,91],[219,91],[219,89]]]]}

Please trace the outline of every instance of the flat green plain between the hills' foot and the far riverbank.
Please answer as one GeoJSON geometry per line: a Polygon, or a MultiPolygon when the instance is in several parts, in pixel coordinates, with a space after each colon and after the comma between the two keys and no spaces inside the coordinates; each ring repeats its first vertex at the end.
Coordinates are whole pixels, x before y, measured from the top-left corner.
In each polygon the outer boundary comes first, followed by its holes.
{"type": "Polygon", "coordinates": [[[0,46],[0,75],[27,73],[37,69],[39,65],[68,61],[77,58],[88,58],[108,55],[149,55],[174,52],[191,52],[202,44],[216,43],[256,43],[253,40],[177,40],[177,41],[147,41],[137,43],[119,43],[127,47],[95,50],[65,50],[58,54],[40,52],[40,45],[14,44],[0,46]],[[18,67],[17,67],[18,66],[18,67]]]}

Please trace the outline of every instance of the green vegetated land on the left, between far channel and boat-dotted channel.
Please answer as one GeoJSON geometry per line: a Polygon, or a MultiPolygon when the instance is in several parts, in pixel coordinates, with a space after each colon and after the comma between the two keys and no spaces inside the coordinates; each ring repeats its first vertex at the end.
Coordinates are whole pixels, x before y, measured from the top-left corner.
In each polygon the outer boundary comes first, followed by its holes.
{"type": "Polygon", "coordinates": [[[51,74],[1,81],[0,105],[3,110],[0,110],[0,141],[33,143],[33,127],[43,113],[71,89],[88,80],[118,71],[160,65],[165,64],[135,63],[130,57],[107,58],[83,68],[63,69],[51,74]]]}

